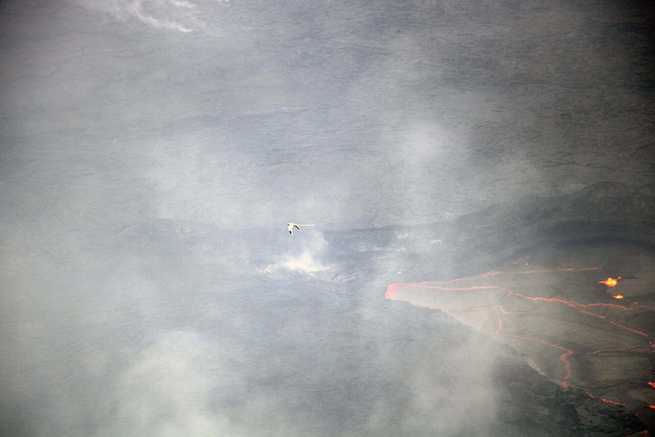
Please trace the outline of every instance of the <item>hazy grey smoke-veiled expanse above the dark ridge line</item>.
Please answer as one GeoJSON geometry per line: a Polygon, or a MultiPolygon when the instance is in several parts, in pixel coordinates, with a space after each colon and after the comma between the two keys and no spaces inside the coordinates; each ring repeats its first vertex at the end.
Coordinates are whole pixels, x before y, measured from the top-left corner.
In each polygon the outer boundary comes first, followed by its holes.
{"type": "Polygon", "coordinates": [[[126,222],[423,223],[593,181],[652,189],[644,9],[8,1],[3,153],[65,175],[76,214],[126,222]]]}

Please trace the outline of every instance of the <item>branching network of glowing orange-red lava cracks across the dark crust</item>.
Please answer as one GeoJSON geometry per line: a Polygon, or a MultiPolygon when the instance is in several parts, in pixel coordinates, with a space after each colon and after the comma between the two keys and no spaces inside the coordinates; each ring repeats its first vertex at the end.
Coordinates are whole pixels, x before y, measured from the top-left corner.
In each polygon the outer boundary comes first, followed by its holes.
{"type": "MultiPolygon", "coordinates": [[[[524,274],[531,274],[531,273],[550,273],[550,272],[557,272],[557,271],[588,271],[588,270],[599,270],[599,269],[601,269],[601,267],[586,267],[586,268],[582,268],[582,269],[570,268],[570,269],[514,271],[514,272],[508,272],[506,274],[524,275],[524,274]]],[[[631,311],[631,310],[634,310],[634,309],[637,309],[637,308],[651,308],[651,307],[646,307],[646,305],[639,305],[639,304],[634,303],[634,302],[633,303],[636,305],[635,307],[626,307],[624,305],[615,305],[615,304],[612,304],[612,303],[601,303],[601,302],[599,302],[599,303],[578,303],[578,302],[575,302],[575,301],[571,301],[569,299],[560,299],[560,298],[557,298],[557,297],[551,297],[551,298],[548,298],[548,297],[529,297],[527,295],[515,293],[513,290],[510,290],[508,288],[504,288],[504,287],[501,287],[501,286],[495,286],[495,285],[472,286],[472,287],[461,287],[461,288],[427,285],[427,284],[430,284],[430,283],[431,284],[452,283],[452,282],[458,282],[458,281],[468,280],[468,279],[472,279],[472,278],[486,278],[486,277],[490,277],[490,276],[500,275],[502,273],[504,273],[504,272],[502,272],[502,271],[489,271],[489,272],[483,273],[481,275],[468,276],[466,278],[457,278],[457,279],[454,279],[454,280],[443,280],[443,281],[422,282],[422,283],[403,282],[403,283],[398,283],[398,284],[390,284],[387,287],[387,290],[386,290],[386,293],[384,294],[384,297],[386,299],[392,299],[393,295],[396,292],[396,290],[398,288],[402,288],[403,286],[431,288],[431,289],[434,289],[434,290],[444,290],[444,291],[456,291],[457,290],[457,291],[462,291],[462,292],[470,291],[470,290],[485,290],[485,289],[486,290],[493,290],[493,289],[495,289],[495,290],[502,290],[502,291],[506,292],[506,294],[505,294],[506,296],[513,294],[513,295],[515,295],[517,297],[521,297],[523,299],[529,299],[529,300],[533,300],[533,301],[544,301],[546,303],[559,303],[559,304],[563,304],[563,305],[568,305],[569,307],[572,307],[572,308],[576,309],[577,311],[579,311],[582,314],[586,314],[586,315],[593,316],[593,317],[596,317],[596,318],[607,318],[607,316],[606,315],[601,315],[601,314],[591,313],[589,311],[583,310],[582,308],[591,309],[591,308],[594,308],[594,307],[614,307],[614,308],[617,308],[617,309],[621,309],[623,311],[631,311]]],[[[613,286],[616,286],[618,280],[620,280],[620,279],[622,279],[622,277],[618,276],[616,279],[607,278],[607,280],[598,281],[598,282],[599,282],[599,284],[605,284],[608,287],[613,287],[613,286]]],[[[615,299],[622,299],[624,296],[623,295],[612,295],[612,297],[614,297],[615,299]]],[[[481,310],[489,310],[489,309],[500,309],[500,312],[502,313],[500,316],[498,316],[498,329],[496,330],[494,335],[502,335],[502,328],[503,328],[503,326],[502,326],[503,325],[502,324],[502,317],[505,314],[525,314],[526,313],[525,311],[521,311],[521,312],[506,311],[502,307],[502,305],[495,305],[495,306],[492,306],[492,307],[470,307],[470,308],[466,308],[466,309],[455,309],[455,310],[441,309],[441,311],[443,313],[451,313],[451,312],[455,312],[455,311],[457,311],[457,312],[468,312],[468,311],[481,311],[481,310]]],[[[655,308],[653,308],[653,309],[655,309],[655,308]]],[[[627,326],[624,326],[622,324],[618,324],[618,323],[616,323],[616,322],[614,322],[612,320],[608,320],[608,322],[610,324],[612,324],[613,326],[616,326],[618,328],[621,328],[621,329],[624,329],[624,330],[627,330],[627,331],[630,331],[630,332],[633,332],[633,333],[637,333],[637,334],[643,335],[645,337],[650,337],[645,332],[641,332],[641,331],[634,330],[632,328],[628,328],[627,326]]],[[[507,336],[515,337],[517,339],[523,339],[523,340],[527,340],[527,341],[534,341],[534,342],[542,343],[544,345],[548,345],[550,347],[555,347],[557,349],[560,349],[561,351],[564,351],[564,353],[561,354],[561,356],[559,357],[561,362],[563,362],[564,369],[566,371],[563,379],[561,380],[561,385],[563,387],[569,387],[569,383],[568,383],[567,380],[569,379],[569,377],[571,377],[571,363],[569,362],[569,360],[567,360],[567,358],[574,353],[571,349],[567,349],[565,347],[555,345],[553,343],[549,343],[548,341],[544,341],[542,339],[535,339],[535,338],[525,337],[525,336],[522,336],[522,335],[515,335],[515,334],[507,334],[507,336]]],[[[649,341],[648,343],[649,343],[650,347],[653,347],[652,342],[649,341]]],[[[631,352],[633,352],[633,351],[643,352],[641,349],[643,349],[643,348],[631,349],[631,352]]],[[[627,349],[614,349],[614,350],[616,350],[616,351],[627,351],[627,349]]],[[[590,354],[595,354],[595,353],[602,352],[602,351],[610,351],[610,349],[599,349],[598,351],[589,352],[589,353],[590,354]]],[[[655,352],[655,351],[651,350],[649,352],[655,352]]],[[[586,355],[588,355],[588,354],[584,354],[583,356],[586,356],[586,355]]],[[[655,383],[649,382],[648,385],[655,388],[655,383]]],[[[616,401],[608,400],[608,399],[605,399],[605,398],[600,398],[600,397],[597,397],[597,396],[593,396],[593,394],[591,394],[589,392],[586,392],[586,393],[589,395],[589,397],[591,397],[593,399],[598,399],[598,400],[601,400],[603,402],[607,402],[608,404],[625,406],[625,404],[622,403],[622,402],[616,402],[616,401]]],[[[650,408],[655,408],[655,406],[650,406],[650,408]]]]}

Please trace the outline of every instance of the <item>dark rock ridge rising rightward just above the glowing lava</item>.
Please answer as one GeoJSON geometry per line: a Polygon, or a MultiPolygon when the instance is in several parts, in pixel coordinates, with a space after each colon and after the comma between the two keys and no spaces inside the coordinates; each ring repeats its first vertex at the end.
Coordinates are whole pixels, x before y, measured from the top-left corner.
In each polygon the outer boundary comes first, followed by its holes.
{"type": "Polygon", "coordinates": [[[632,185],[602,182],[570,195],[498,204],[451,222],[324,235],[335,258],[371,263],[392,258],[390,282],[451,279],[477,275],[539,246],[611,241],[655,246],[654,205],[632,185]]]}

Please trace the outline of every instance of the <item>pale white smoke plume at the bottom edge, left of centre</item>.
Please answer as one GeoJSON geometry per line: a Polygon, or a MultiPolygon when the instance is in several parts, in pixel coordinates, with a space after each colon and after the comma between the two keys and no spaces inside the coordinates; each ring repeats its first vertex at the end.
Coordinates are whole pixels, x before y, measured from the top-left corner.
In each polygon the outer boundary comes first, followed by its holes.
{"type": "Polygon", "coordinates": [[[207,407],[214,383],[206,371],[211,366],[208,357],[217,359],[196,333],[161,335],[119,381],[119,428],[126,427],[133,435],[223,434],[229,419],[207,407]]]}

